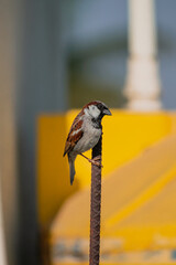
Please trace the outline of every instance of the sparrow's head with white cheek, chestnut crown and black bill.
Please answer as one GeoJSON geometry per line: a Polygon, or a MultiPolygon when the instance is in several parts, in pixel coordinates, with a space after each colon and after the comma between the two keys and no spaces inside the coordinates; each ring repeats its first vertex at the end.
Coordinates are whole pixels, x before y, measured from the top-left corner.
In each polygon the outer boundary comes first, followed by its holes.
{"type": "Polygon", "coordinates": [[[88,103],[84,107],[84,112],[87,116],[99,120],[101,120],[105,115],[112,115],[106,104],[98,100],[88,103]]]}

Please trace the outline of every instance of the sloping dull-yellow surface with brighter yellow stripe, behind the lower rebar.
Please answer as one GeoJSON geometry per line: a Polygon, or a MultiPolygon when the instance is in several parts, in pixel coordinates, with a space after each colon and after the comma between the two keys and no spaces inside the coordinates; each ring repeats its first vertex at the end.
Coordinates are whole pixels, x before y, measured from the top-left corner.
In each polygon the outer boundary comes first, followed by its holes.
{"type": "MultiPolygon", "coordinates": [[[[101,239],[119,241],[111,254],[176,248],[175,204],[176,135],[172,135],[105,179],[101,239]]],[[[58,212],[51,227],[51,248],[63,240],[88,237],[89,189],[85,189],[58,212]]],[[[107,252],[108,243],[101,248],[107,252]]]]}

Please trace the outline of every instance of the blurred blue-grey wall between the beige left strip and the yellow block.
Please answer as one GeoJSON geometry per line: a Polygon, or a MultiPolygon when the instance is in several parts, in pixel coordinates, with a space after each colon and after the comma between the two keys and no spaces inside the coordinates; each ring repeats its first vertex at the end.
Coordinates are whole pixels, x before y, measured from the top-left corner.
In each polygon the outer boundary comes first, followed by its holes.
{"type": "Polygon", "coordinates": [[[67,107],[62,1],[19,1],[16,135],[21,264],[38,264],[36,120],[67,107]]]}

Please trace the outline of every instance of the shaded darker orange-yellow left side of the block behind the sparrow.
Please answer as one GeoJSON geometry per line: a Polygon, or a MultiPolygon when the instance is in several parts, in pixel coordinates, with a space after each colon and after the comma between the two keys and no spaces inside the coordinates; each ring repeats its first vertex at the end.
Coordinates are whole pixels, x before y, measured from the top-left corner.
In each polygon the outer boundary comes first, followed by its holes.
{"type": "Polygon", "coordinates": [[[63,159],[65,116],[43,116],[37,126],[37,197],[42,229],[53,220],[62,202],[76,186],[68,186],[68,165],[63,159]]]}

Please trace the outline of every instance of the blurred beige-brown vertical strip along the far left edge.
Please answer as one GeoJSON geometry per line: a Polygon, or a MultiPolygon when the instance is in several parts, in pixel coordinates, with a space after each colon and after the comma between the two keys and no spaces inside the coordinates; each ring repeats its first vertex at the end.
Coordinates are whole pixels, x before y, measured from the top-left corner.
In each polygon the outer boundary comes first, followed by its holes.
{"type": "Polygon", "coordinates": [[[15,145],[14,89],[15,4],[1,1],[0,8],[0,195],[2,199],[8,264],[18,264],[19,205],[15,145]]]}

